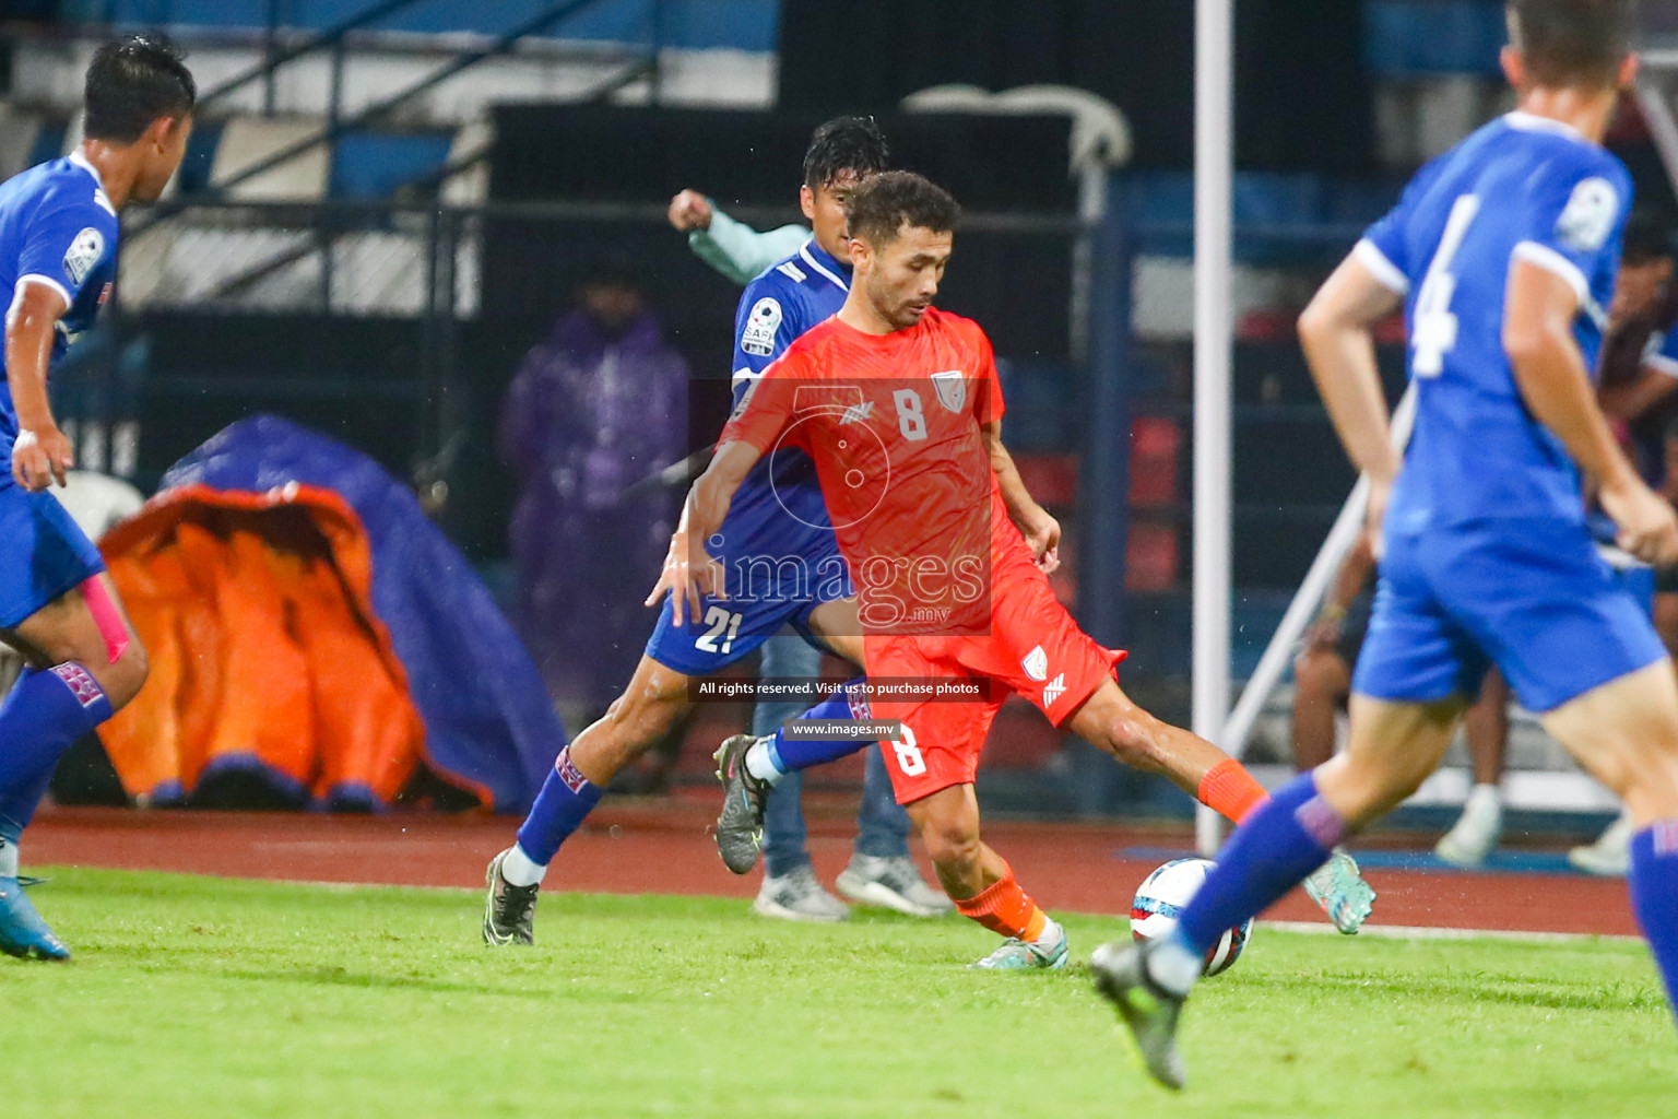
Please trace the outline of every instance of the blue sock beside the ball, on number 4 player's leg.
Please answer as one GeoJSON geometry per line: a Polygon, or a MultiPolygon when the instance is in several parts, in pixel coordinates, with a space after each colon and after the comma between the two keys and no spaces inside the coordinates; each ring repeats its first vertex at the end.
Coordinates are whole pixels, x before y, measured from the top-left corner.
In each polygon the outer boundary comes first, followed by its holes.
{"type": "Polygon", "coordinates": [[[1235,829],[1218,852],[1218,869],[1183,911],[1178,938],[1203,956],[1227,929],[1258,916],[1327,862],[1344,832],[1346,820],[1317,795],[1316,778],[1294,778],[1235,829]]]}

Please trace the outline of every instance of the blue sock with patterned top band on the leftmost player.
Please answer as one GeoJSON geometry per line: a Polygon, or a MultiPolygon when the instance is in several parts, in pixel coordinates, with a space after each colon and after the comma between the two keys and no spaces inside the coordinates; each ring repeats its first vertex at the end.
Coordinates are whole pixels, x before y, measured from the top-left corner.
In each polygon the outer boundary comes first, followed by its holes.
{"type": "Polygon", "coordinates": [[[74,661],[18,676],[0,703],[0,839],[17,842],[59,758],[107,718],[104,690],[74,661]]]}

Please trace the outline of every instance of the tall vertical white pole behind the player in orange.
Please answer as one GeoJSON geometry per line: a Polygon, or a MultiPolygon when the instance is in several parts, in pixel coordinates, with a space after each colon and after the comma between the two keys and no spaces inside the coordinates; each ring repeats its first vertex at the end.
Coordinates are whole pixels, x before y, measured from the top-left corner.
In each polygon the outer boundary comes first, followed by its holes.
{"type": "MultiPolygon", "coordinates": [[[[1195,0],[1193,730],[1212,740],[1230,710],[1232,8],[1233,0],[1195,0]]],[[[1196,822],[1201,849],[1203,832],[1196,822]]]]}

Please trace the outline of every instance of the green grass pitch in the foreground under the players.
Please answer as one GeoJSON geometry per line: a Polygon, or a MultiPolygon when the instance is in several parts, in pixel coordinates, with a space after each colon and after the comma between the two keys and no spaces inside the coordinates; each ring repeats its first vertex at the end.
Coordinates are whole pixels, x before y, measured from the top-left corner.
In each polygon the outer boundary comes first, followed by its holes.
{"type": "MultiPolygon", "coordinates": [[[[753,918],[549,894],[490,951],[480,898],[49,871],[69,966],[0,958],[7,1116],[873,1117],[1678,1114],[1641,945],[1260,928],[1156,1089],[1081,968],[963,970],[958,919],[753,918]]],[[[1074,960],[1123,923],[1071,918],[1074,960]]]]}

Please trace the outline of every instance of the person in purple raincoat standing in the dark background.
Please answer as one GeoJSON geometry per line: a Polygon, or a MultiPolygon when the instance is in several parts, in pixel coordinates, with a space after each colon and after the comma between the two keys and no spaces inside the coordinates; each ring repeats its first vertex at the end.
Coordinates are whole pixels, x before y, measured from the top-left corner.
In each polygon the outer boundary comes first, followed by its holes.
{"type": "Polygon", "coordinates": [[[519,480],[515,622],[567,715],[601,713],[641,656],[629,589],[658,579],[678,507],[661,487],[626,490],[685,455],[686,384],[634,275],[607,262],[502,404],[497,446],[519,480]]]}

